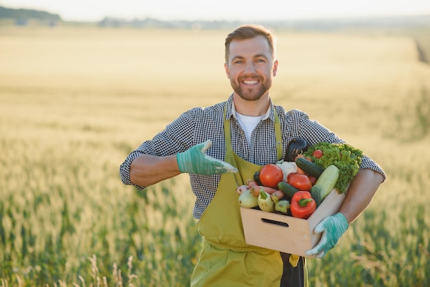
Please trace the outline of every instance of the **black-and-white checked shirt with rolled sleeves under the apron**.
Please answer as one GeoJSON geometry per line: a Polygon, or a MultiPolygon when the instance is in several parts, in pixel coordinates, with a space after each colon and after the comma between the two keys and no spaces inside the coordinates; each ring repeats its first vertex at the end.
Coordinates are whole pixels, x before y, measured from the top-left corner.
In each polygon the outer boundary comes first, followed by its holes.
{"type": "MultiPolygon", "coordinates": [[[[345,142],[335,133],[330,132],[316,121],[310,120],[308,115],[299,110],[285,111],[282,106],[270,103],[269,111],[262,121],[256,126],[251,135],[251,145],[235,116],[233,97],[230,96],[226,102],[220,102],[207,108],[192,108],[186,111],[166,126],[166,129],[155,135],[152,140],[145,141],[139,148],[133,150],[122,163],[120,174],[123,183],[133,185],[130,181],[131,162],[140,154],[153,154],[166,156],[184,152],[198,143],[207,139],[212,140],[212,147],[207,154],[216,159],[225,159],[224,139],[224,107],[227,104],[227,119],[230,119],[231,146],[234,152],[246,161],[256,165],[275,163],[276,157],[275,133],[274,133],[274,109],[278,112],[282,132],[282,157],[285,155],[286,146],[289,141],[296,137],[306,139],[308,145],[321,141],[329,143],[345,142]]],[[[363,157],[361,168],[370,168],[384,176],[383,170],[369,157],[363,157]]],[[[203,176],[190,174],[192,191],[196,196],[193,215],[199,219],[206,207],[214,198],[216,188],[220,181],[220,175],[203,176]]],[[[145,187],[137,186],[139,190],[145,187]]],[[[231,187],[232,192],[236,187],[231,187]]]]}

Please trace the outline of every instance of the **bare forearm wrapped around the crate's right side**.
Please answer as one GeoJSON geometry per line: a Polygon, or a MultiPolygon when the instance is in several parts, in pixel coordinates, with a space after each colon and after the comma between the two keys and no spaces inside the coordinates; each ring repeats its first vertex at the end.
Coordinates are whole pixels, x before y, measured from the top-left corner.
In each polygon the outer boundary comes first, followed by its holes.
{"type": "Polygon", "coordinates": [[[370,204],[382,182],[383,176],[370,169],[360,170],[354,177],[340,210],[348,223],[359,217],[361,212],[370,204]]]}

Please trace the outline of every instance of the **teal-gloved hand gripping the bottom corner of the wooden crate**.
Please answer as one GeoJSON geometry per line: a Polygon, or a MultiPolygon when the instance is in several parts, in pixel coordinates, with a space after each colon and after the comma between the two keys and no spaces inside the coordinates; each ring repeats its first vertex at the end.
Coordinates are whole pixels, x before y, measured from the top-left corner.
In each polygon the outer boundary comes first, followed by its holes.
{"type": "Polygon", "coordinates": [[[346,229],[348,229],[348,220],[340,212],[324,218],[314,229],[315,233],[322,232],[321,240],[313,249],[306,251],[305,254],[307,256],[315,255],[317,258],[324,257],[330,249],[335,247],[346,229]]]}

